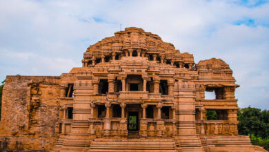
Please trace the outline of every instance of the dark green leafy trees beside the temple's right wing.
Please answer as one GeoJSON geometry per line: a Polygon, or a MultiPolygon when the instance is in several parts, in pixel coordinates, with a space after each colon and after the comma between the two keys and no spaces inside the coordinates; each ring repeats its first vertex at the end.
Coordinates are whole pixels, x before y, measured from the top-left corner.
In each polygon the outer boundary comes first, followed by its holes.
{"type": "Polygon", "coordinates": [[[241,108],[238,113],[239,135],[249,135],[252,144],[269,148],[269,111],[259,108],[241,108]]]}

